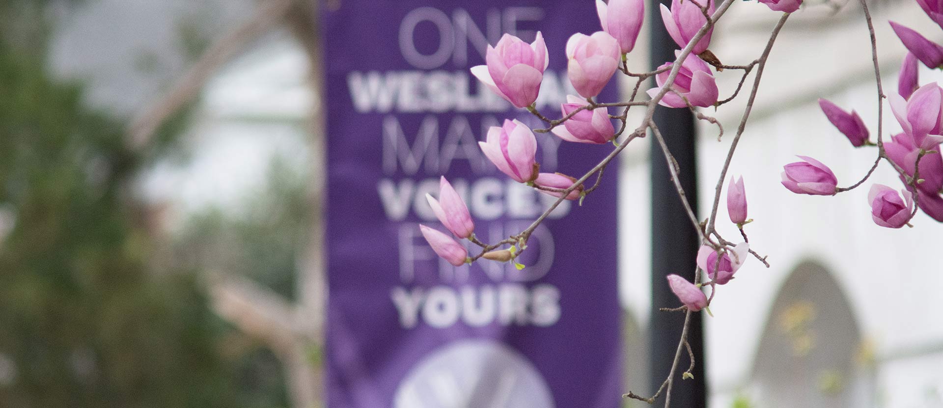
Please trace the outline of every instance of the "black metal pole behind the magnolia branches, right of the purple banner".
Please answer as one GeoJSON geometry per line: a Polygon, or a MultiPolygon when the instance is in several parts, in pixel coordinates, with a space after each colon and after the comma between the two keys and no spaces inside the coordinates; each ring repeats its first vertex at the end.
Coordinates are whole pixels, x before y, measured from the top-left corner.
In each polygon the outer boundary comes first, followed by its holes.
{"type": "MultiPolygon", "coordinates": [[[[670,6],[669,0],[662,0],[670,6]]],[[[652,33],[652,68],[674,60],[674,50],[679,49],[671,40],[665,24],[661,21],[658,0],[651,0],[648,8],[649,30],[652,33]]],[[[688,109],[658,106],[654,113],[654,122],[661,130],[671,154],[678,160],[681,168],[679,178],[685,188],[687,200],[697,212],[697,162],[695,151],[694,116],[688,109]]],[[[650,136],[653,138],[653,136],[650,136]]],[[[649,319],[650,345],[650,388],[657,390],[665,381],[674,360],[674,353],[681,338],[685,322],[684,313],[661,312],[661,307],[677,307],[680,302],[671,293],[668,280],[671,273],[694,280],[694,267],[697,258],[697,231],[685,216],[685,208],[678,198],[678,192],[671,183],[671,174],[664,160],[664,153],[657,142],[651,140],[652,152],[652,312],[649,319]]],[[[681,373],[687,369],[687,351],[682,351],[682,359],[675,373],[671,391],[672,408],[703,408],[706,406],[707,387],[704,382],[703,327],[702,314],[691,317],[687,332],[687,341],[694,351],[694,379],[681,380],[681,373]]]]}

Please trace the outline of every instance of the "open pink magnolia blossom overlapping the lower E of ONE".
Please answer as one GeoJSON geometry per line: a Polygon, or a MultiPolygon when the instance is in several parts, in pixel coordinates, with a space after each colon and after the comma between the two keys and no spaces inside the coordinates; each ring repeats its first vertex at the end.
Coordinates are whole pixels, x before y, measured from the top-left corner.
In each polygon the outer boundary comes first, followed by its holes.
{"type": "Polygon", "coordinates": [[[489,89],[517,107],[537,101],[543,71],[550,63],[539,31],[530,44],[505,34],[494,47],[488,45],[485,61],[488,65],[472,67],[472,74],[489,89]]]}

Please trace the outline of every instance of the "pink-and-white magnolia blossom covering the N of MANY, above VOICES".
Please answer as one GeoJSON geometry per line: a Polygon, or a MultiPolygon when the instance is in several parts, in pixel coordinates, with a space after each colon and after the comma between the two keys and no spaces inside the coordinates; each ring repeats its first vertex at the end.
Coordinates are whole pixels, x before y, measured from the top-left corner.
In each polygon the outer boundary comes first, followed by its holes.
{"type": "Polygon", "coordinates": [[[526,124],[505,119],[504,126],[491,126],[486,141],[478,145],[498,170],[514,180],[527,183],[537,178],[537,139],[526,124]]]}

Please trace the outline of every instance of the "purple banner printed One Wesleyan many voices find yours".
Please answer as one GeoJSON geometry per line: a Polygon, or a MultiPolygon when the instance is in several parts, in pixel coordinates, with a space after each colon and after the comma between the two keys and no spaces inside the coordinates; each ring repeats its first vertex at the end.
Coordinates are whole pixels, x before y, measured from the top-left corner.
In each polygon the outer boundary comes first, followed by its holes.
{"type": "MultiPolygon", "coordinates": [[[[330,408],[620,405],[618,165],[583,206],[565,202],[538,227],[522,270],[455,268],[419,230],[445,231],[425,200],[441,174],[486,242],[521,232],[554,202],[482,154],[489,126],[543,126],[469,69],[503,33],[530,42],[541,31],[550,67],[537,105],[559,117],[575,94],[566,41],[599,29],[591,1],[325,3],[330,408]]],[[[615,98],[610,85],[599,100],[615,98]]],[[[545,172],[578,177],[612,149],[537,136],[545,172]]]]}

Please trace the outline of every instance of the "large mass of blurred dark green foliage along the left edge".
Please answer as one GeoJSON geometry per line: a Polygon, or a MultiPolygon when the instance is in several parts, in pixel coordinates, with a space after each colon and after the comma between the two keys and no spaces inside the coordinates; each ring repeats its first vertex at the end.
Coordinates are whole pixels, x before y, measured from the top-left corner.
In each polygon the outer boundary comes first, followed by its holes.
{"type": "MultiPolygon", "coordinates": [[[[7,23],[43,2],[0,3],[7,23]]],[[[0,29],[0,406],[287,405],[277,375],[246,377],[259,359],[225,353],[234,332],[194,270],[153,268],[152,211],[129,186],[155,151],[127,151],[123,123],[47,73],[35,26],[0,29]]]]}

